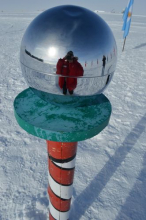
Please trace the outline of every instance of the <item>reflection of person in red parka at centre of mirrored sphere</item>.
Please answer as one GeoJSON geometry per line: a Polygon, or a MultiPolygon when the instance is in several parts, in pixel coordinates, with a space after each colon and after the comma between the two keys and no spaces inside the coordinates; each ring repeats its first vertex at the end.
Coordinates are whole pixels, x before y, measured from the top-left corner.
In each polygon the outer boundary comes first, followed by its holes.
{"type": "Polygon", "coordinates": [[[83,76],[84,73],[78,58],[74,57],[72,51],[69,51],[63,59],[58,60],[56,69],[56,74],[67,76],[59,77],[59,86],[63,89],[63,94],[66,95],[68,90],[70,95],[72,95],[77,86],[77,78],[73,76],[83,76]]]}

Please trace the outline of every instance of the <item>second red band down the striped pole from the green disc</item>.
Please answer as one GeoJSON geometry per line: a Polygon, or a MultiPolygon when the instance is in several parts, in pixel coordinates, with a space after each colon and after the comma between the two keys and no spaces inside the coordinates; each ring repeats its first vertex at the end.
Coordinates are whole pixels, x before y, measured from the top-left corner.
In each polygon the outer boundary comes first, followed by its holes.
{"type": "Polygon", "coordinates": [[[56,182],[63,185],[70,185],[73,183],[74,169],[63,170],[55,166],[50,159],[48,159],[48,163],[49,163],[49,167],[48,167],[49,173],[56,182]]]}

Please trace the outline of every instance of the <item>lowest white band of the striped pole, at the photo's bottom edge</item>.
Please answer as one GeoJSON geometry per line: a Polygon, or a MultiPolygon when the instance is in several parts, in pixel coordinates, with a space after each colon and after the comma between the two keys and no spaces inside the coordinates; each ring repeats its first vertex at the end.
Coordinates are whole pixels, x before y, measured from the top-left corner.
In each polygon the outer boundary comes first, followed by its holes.
{"type": "Polygon", "coordinates": [[[56,210],[53,205],[51,204],[51,202],[49,201],[49,210],[51,215],[53,216],[53,218],[57,219],[57,220],[68,220],[69,219],[69,212],[59,212],[58,210],[56,210]]]}

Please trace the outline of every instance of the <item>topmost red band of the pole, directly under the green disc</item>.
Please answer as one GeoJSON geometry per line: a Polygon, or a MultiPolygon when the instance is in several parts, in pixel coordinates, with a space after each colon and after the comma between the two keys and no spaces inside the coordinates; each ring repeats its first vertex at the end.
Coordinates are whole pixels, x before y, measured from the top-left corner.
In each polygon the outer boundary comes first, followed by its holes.
{"type": "Polygon", "coordinates": [[[47,149],[50,156],[55,159],[68,159],[77,151],[77,142],[54,142],[47,140],[47,149]]]}

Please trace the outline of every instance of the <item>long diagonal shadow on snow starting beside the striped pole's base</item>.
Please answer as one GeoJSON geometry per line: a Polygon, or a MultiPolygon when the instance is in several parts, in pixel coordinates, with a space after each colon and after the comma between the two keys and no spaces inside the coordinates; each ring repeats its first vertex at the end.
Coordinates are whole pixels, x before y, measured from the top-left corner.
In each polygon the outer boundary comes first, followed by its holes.
{"type": "Polygon", "coordinates": [[[114,156],[105,164],[102,170],[95,176],[92,182],[85,190],[75,198],[71,209],[71,219],[80,219],[92,203],[98,198],[100,192],[104,189],[112,175],[121,165],[126,155],[135,145],[146,126],[146,114],[141,118],[134,129],[128,134],[121,146],[116,150],[114,156]]]}

